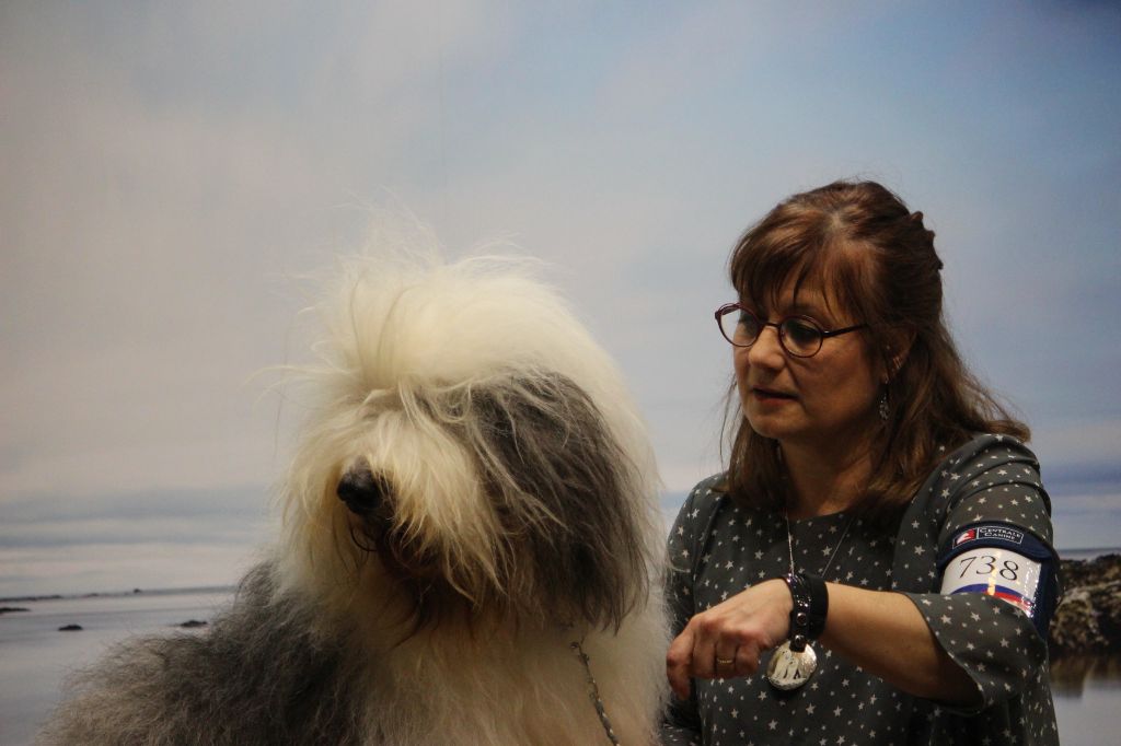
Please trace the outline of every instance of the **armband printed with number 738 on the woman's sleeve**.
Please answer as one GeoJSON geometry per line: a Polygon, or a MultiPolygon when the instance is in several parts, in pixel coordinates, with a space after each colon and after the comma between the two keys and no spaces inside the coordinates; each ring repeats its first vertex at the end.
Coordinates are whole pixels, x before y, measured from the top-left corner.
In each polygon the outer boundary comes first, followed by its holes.
{"type": "Polygon", "coordinates": [[[1051,550],[1008,523],[975,523],[953,534],[938,556],[939,593],[984,594],[1023,612],[1044,640],[1058,596],[1051,550]]]}

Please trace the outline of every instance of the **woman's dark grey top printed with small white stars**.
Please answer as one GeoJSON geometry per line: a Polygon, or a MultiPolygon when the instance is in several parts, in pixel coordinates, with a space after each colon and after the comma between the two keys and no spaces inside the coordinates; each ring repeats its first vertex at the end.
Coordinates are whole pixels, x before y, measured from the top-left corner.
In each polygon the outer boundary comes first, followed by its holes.
{"type": "MultiPolygon", "coordinates": [[[[675,634],[694,614],[789,571],[782,515],[734,504],[716,488],[722,477],[693,489],[670,530],[666,591],[675,634]]],[[[763,675],[770,653],[753,677],[694,679],[689,701],[670,706],[661,743],[1058,744],[1047,645],[1031,619],[993,596],[942,595],[936,565],[960,530],[978,522],[1016,526],[1050,549],[1050,501],[1031,451],[1007,436],[979,436],[930,474],[893,534],[856,520],[842,541],[849,521],[837,513],[793,522],[797,569],[821,575],[828,562],[831,582],[906,594],[984,705],[970,711],[912,697],[817,643],[817,672],[789,692],[763,675]]]]}

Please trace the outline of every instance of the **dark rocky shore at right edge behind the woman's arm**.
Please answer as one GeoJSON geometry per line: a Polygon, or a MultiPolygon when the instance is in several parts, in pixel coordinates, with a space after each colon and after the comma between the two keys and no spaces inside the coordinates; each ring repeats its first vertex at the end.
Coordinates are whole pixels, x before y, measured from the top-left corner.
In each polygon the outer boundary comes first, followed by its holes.
{"type": "Polygon", "coordinates": [[[1063,599],[1050,625],[1050,658],[1121,655],[1121,554],[1063,560],[1063,599]]]}

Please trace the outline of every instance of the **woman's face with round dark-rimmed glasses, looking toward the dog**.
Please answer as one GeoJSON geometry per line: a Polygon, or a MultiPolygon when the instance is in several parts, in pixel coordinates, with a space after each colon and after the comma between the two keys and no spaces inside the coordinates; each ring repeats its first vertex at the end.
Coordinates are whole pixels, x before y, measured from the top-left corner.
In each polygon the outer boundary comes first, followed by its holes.
{"type": "MultiPolygon", "coordinates": [[[[790,280],[776,301],[777,307],[765,308],[757,299],[742,300],[767,321],[802,315],[824,330],[863,323],[826,304],[812,281],[796,298],[790,280]]],[[[753,345],[734,351],[740,402],[756,432],[788,446],[828,450],[867,442],[878,421],[880,381],[861,332],[827,337],[813,357],[795,357],[782,349],[778,329],[766,326],[753,345]]]]}

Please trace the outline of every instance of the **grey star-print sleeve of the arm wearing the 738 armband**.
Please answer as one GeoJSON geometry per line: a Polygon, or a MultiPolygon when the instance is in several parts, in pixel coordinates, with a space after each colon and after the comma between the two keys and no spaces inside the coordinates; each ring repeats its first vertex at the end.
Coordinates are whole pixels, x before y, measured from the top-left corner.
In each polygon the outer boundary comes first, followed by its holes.
{"type": "MultiPolygon", "coordinates": [[[[932,517],[941,519],[939,558],[952,554],[955,541],[974,541],[978,537],[976,545],[985,547],[983,537],[971,526],[990,526],[991,533],[1006,537],[1020,534],[1028,537],[1034,545],[1045,548],[1051,575],[1044,581],[1055,586],[1048,588],[1048,593],[1057,590],[1050,502],[1040,484],[1039,465],[1031,451],[1011,438],[986,436],[971,453],[947,459],[941,468],[932,495],[932,506],[936,509],[932,517]]],[[[989,532],[980,533],[989,535],[989,532]]],[[[999,565],[995,567],[999,572],[999,565]]],[[[934,584],[941,588],[942,577],[934,584]]],[[[992,587],[991,584],[988,587],[990,593],[980,588],[975,593],[906,594],[923,614],[938,644],[970,675],[981,693],[978,707],[957,710],[963,715],[1017,697],[1046,673],[1045,637],[1022,608],[999,594],[991,595],[992,587]]]]}

